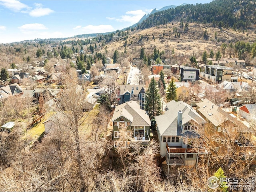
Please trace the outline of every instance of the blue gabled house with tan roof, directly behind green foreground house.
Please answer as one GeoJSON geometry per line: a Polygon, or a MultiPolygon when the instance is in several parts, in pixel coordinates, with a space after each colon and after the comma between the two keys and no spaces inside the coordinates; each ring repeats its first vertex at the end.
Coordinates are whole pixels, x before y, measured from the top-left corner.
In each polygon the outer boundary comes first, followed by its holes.
{"type": "Polygon", "coordinates": [[[144,85],[120,85],[118,98],[120,98],[120,104],[137,100],[140,102],[140,108],[144,109],[145,93],[144,85]]]}

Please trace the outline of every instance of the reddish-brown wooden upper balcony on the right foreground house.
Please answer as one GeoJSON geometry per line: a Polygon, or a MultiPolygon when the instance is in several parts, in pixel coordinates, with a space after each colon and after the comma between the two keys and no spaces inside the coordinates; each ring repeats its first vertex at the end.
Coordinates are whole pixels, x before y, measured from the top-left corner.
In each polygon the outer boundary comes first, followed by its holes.
{"type": "Polygon", "coordinates": [[[181,146],[168,146],[166,143],[167,153],[197,153],[197,154],[208,154],[205,148],[202,147],[194,147],[194,148],[182,148],[181,146]]]}

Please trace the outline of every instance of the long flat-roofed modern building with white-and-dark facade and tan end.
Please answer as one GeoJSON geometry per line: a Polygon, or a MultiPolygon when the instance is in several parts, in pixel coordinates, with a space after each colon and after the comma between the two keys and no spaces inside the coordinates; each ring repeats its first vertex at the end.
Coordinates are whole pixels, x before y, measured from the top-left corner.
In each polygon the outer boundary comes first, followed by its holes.
{"type": "Polygon", "coordinates": [[[233,68],[221,65],[201,66],[200,77],[213,83],[222,83],[224,80],[231,81],[235,77],[232,75],[233,68]]]}

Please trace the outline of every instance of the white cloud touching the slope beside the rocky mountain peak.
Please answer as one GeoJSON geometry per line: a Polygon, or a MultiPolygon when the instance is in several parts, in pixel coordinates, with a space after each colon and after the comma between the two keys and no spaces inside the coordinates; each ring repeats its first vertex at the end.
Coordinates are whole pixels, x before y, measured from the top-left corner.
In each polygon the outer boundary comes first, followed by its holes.
{"type": "Polygon", "coordinates": [[[107,19],[116,20],[118,22],[129,22],[131,24],[134,24],[134,23],[137,23],[145,14],[146,12],[144,12],[143,10],[134,10],[134,11],[127,11],[126,15],[122,15],[120,16],[120,18],[107,17],[107,19]]]}

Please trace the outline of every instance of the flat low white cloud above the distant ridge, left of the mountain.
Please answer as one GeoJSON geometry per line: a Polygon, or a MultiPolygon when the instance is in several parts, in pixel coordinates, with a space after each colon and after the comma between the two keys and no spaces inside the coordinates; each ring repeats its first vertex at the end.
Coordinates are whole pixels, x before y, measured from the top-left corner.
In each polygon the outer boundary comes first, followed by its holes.
{"type": "Polygon", "coordinates": [[[104,33],[114,31],[114,28],[111,25],[88,25],[88,26],[76,26],[73,28],[75,30],[78,29],[79,32],[84,32],[85,34],[90,33],[104,33]],[[78,28],[77,28],[78,27],[78,28]]]}

